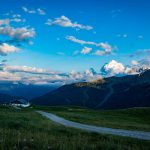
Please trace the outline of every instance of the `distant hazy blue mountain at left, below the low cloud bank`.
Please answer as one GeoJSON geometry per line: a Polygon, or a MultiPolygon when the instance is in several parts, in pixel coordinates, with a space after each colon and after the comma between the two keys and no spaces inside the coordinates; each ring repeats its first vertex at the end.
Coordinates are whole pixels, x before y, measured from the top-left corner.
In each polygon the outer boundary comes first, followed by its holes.
{"type": "Polygon", "coordinates": [[[56,89],[56,86],[0,83],[0,93],[33,99],[56,89]]]}

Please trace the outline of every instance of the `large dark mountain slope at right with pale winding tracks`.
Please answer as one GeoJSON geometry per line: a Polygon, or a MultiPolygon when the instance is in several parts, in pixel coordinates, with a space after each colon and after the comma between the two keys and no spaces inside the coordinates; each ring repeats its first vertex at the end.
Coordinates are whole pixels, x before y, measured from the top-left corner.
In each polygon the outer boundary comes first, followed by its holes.
{"type": "Polygon", "coordinates": [[[139,75],[64,85],[32,102],[38,105],[77,105],[97,109],[147,107],[150,106],[150,70],[139,75]]]}

